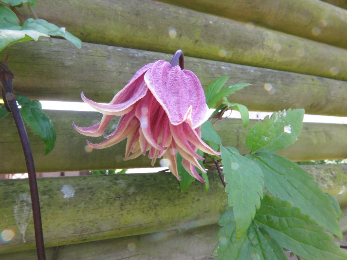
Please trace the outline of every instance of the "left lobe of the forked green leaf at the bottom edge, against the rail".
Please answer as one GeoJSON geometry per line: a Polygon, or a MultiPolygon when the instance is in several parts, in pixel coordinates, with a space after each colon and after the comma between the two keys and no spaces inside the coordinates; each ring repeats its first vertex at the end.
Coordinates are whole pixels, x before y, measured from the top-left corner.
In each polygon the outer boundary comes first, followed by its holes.
{"type": "Polygon", "coordinates": [[[251,259],[252,251],[249,244],[247,234],[236,240],[236,228],[234,214],[230,207],[220,216],[218,225],[222,226],[217,234],[218,244],[214,248],[214,260],[235,259],[247,260],[251,259]]]}

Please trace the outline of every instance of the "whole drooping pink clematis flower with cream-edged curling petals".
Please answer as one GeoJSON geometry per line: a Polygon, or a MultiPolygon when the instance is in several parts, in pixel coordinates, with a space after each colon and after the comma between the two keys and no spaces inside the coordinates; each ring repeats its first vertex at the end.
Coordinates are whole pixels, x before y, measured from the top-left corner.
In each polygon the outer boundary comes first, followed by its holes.
{"type": "Polygon", "coordinates": [[[152,166],[157,158],[163,157],[169,170],[180,180],[176,161],[178,151],[183,157],[183,167],[201,182],[205,181],[195,167],[205,172],[197,161],[204,158],[196,153],[197,149],[220,155],[201,139],[201,124],[210,113],[200,81],[192,71],[159,60],[139,69],[107,105],[91,101],[83,92],[81,97],[103,114],[101,121],[91,127],[78,127],[73,123],[83,135],[104,135],[106,140],[100,144],[87,140],[92,148],[106,148],[127,138],[124,160],[149,151],[152,166]],[[104,130],[115,115],[122,115],[117,128],[105,135],[104,130]]]}

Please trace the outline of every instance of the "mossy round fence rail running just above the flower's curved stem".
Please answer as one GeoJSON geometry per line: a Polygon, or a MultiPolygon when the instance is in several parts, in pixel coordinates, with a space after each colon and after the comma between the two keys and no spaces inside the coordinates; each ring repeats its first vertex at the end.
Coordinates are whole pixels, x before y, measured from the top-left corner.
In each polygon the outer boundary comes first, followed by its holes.
{"type": "Polygon", "coordinates": [[[345,49],[151,0],[43,0],[35,12],[84,42],[347,79],[345,49]]]}

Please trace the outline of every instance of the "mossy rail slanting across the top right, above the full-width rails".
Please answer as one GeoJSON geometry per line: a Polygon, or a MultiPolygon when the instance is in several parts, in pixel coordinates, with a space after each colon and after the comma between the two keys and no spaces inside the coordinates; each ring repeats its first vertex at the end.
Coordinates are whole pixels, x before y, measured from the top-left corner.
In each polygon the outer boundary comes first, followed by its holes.
{"type": "MultiPolygon", "coordinates": [[[[318,0],[159,0],[347,48],[347,10],[318,0]]],[[[335,2],[337,2],[335,0],[335,2]]],[[[345,6],[346,1],[342,0],[345,6]]]]}

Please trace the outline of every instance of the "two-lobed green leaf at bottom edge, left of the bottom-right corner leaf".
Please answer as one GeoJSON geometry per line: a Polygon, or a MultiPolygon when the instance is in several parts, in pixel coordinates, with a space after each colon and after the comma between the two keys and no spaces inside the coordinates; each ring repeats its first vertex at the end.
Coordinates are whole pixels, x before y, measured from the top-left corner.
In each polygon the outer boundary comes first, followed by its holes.
{"type": "Polygon", "coordinates": [[[214,248],[214,259],[287,259],[282,247],[268,233],[256,225],[249,226],[247,233],[236,240],[236,229],[232,208],[227,207],[219,219],[222,228],[217,235],[218,244],[214,248]]]}

